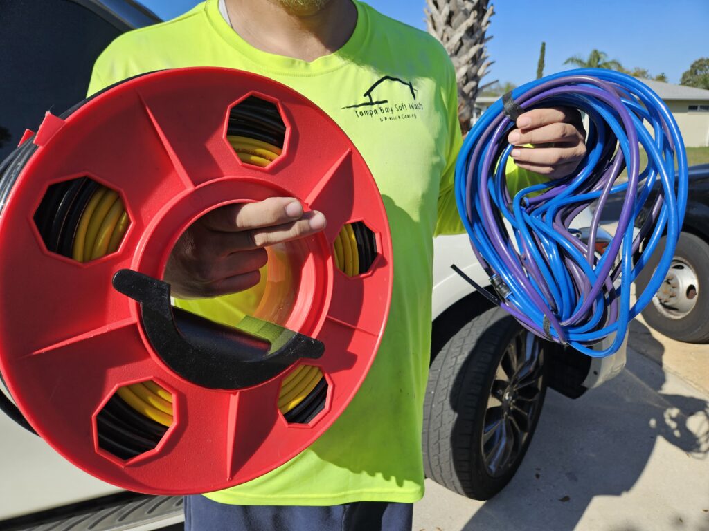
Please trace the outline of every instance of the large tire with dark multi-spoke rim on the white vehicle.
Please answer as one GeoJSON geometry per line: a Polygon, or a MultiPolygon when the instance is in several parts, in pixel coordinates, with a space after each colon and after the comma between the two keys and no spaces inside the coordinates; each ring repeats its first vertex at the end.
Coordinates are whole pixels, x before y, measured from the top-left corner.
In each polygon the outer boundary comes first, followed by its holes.
{"type": "Polygon", "coordinates": [[[430,367],[424,399],[423,462],[430,479],[476,500],[492,498],[508,484],[544,404],[548,344],[499,308],[471,319],[445,343],[430,367]],[[513,350],[529,358],[518,364],[517,376],[513,350]],[[522,387],[513,389],[515,381],[522,387]],[[498,442],[503,454],[495,462],[491,450],[498,442]]]}

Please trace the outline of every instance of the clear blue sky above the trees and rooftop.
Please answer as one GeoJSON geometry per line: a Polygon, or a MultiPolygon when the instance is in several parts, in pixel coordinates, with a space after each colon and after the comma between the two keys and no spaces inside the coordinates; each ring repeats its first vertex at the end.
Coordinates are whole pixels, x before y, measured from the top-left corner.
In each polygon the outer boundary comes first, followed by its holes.
{"type": "MultiPolygon", "coordinates": [[[[264,1],[264,0],[261,0],[264,1]]],[[[160,16],[176,16],[195,0],[144,0],[160,16]]],[[[417,28],[424,0],[369,0],[382,13],[417,28]]],[[[534,79],[542,40],[547,42],[545,74],[568,67],[564,59],[593,48],[627,68],[664,72],[679,79],[691,62],[709,57],[708,0],[498,0],[491,2],[488,54],[495,62],[484,81],[523,84],[534,79]]]]}

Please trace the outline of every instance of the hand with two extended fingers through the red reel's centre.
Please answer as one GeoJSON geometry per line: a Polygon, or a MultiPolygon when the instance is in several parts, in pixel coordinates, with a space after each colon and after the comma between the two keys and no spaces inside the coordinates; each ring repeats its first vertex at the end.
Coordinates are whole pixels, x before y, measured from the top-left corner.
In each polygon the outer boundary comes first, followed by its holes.
{"type": "Polygon", "coordinates": [[[174,297],[216,297],[258,284],[265,246],[316,234],[321,212],[303,213],[294,198],[225,205],[203,215],[179,237],[165,267],[174,297]]]}

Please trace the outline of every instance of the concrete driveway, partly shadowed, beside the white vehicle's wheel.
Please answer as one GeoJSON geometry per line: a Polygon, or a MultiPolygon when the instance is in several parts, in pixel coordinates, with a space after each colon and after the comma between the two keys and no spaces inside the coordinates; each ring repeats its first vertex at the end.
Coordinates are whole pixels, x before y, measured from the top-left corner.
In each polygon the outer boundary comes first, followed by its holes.
{"type": "Polygon", "coordinates": [[[487,502],[427,480],[413,530],[709,531],[709,346],[642,320],[623,374],[578,400],[549,392],[513,481],[487,502]]]}

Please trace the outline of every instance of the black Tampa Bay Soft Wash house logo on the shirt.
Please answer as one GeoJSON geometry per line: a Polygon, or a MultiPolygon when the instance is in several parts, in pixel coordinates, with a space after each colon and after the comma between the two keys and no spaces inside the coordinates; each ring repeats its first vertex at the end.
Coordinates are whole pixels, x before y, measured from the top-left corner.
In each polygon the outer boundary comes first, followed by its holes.
{"type": "Polygon", "coordinates": [[[357,118],[377,118],[380,122],[411,120],[418,118],[418,111],[423,110],[416,92],[411,81],[383,76],[362,94],[364,101],[342,108],[352,109],[357,118]]]}

